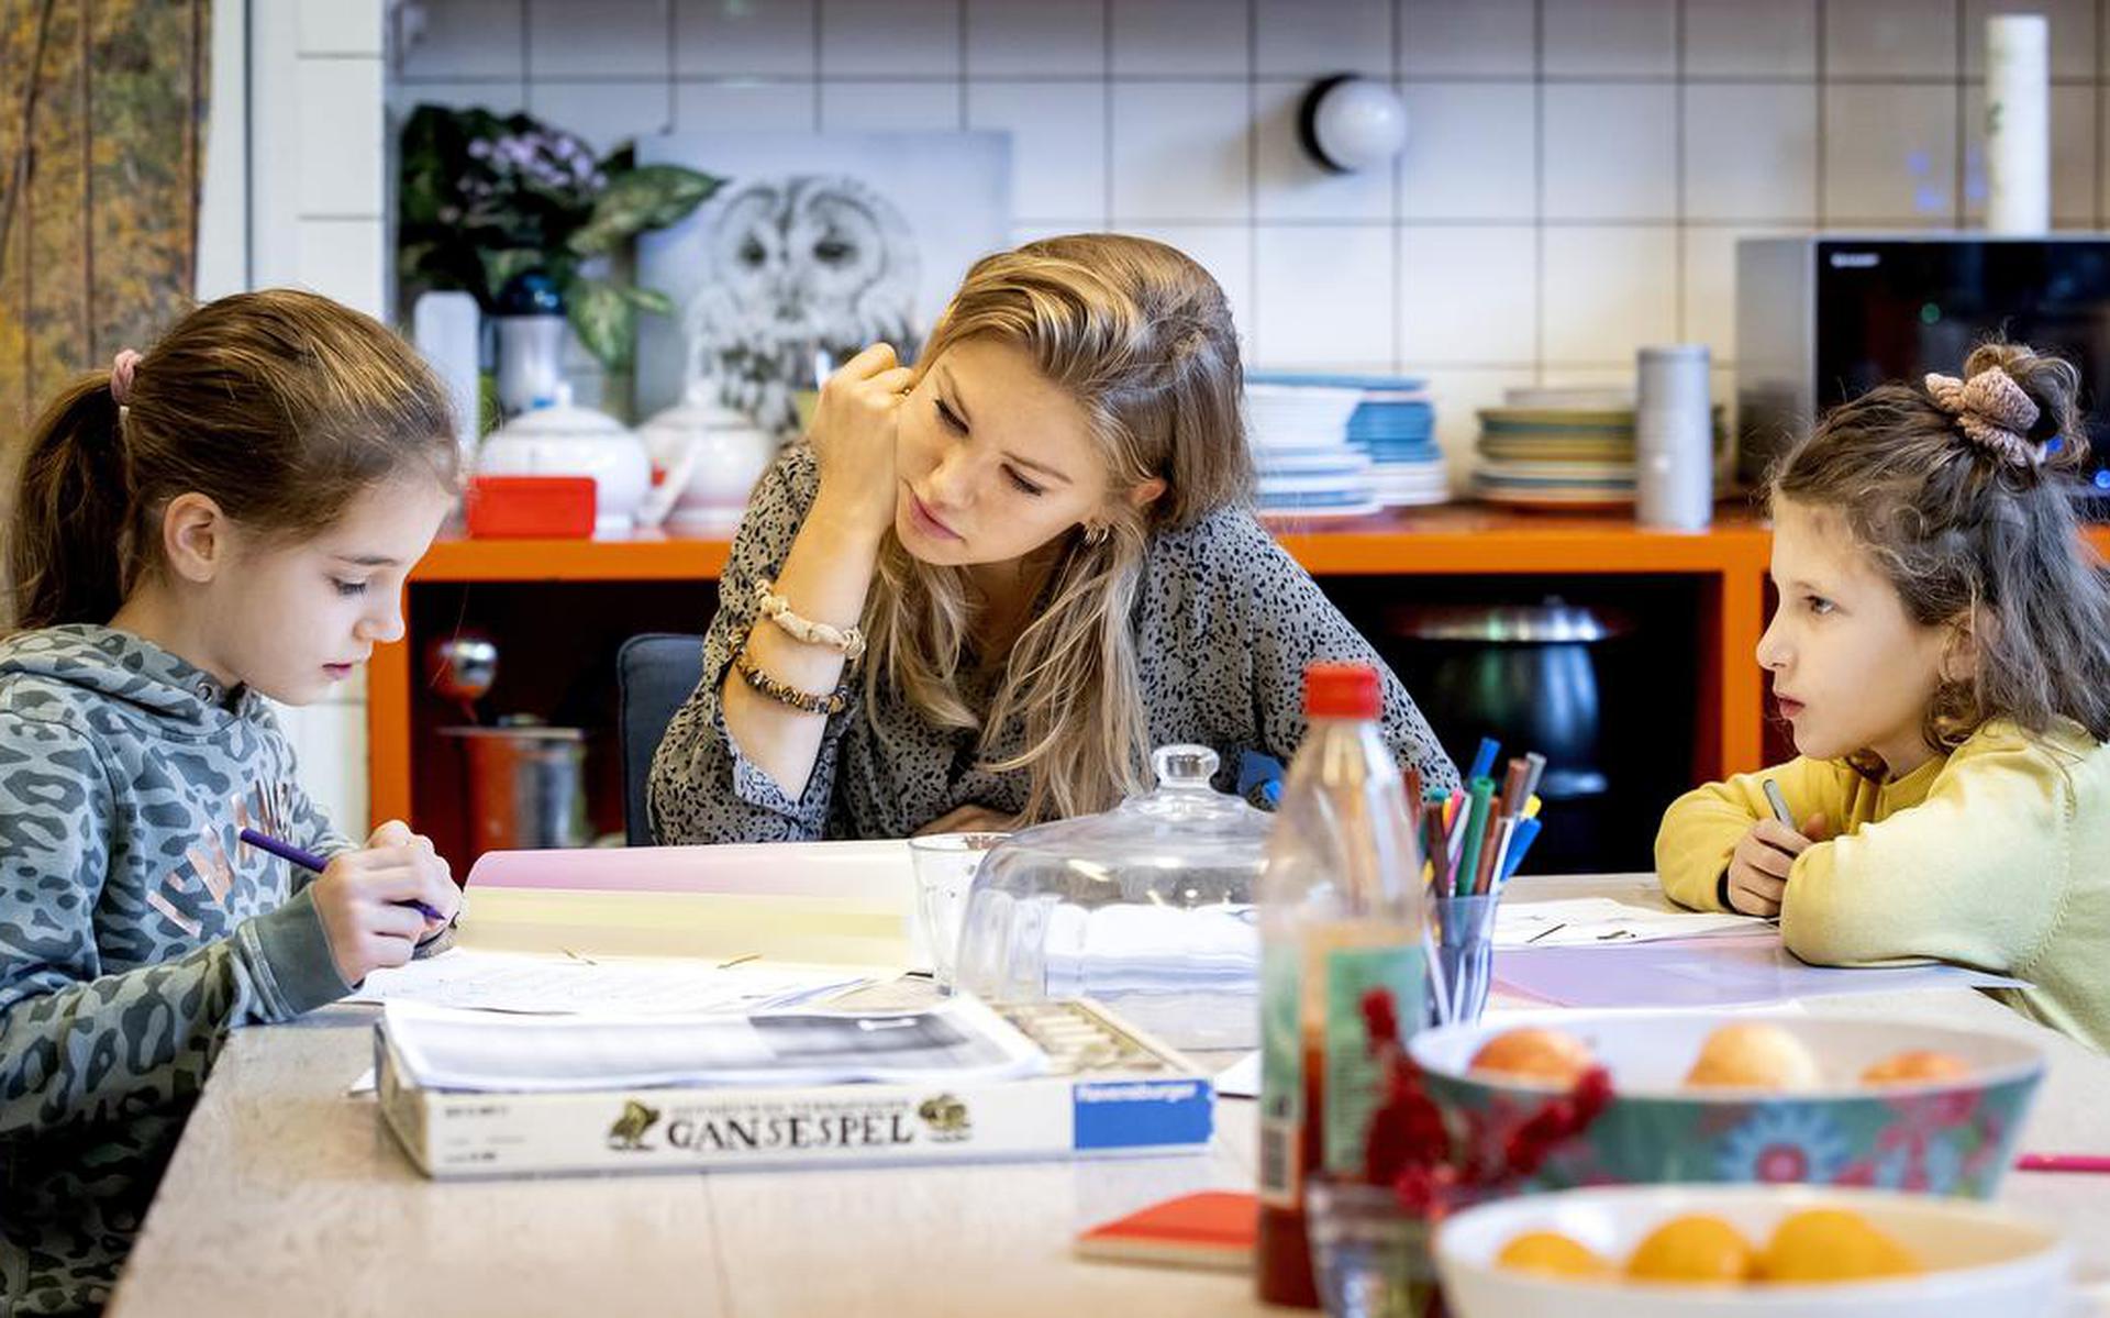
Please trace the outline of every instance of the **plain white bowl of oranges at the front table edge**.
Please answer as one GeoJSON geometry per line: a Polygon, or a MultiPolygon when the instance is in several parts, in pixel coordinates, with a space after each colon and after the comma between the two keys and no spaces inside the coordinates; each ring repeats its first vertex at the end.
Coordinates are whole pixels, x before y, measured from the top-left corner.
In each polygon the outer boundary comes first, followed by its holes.
{"type": "Polygon", "coordinates": [[[1458,1318],[2055,1314],[2070,1250],[1992,1204],[1808,1185],[1623,1185],[1466,1208],[1435,1242],[1458,1318]]]}

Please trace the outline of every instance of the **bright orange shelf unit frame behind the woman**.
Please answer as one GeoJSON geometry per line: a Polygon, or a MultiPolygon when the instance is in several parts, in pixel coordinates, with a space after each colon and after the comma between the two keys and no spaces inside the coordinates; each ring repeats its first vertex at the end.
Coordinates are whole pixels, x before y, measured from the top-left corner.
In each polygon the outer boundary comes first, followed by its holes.
{"type": "MultiPolygon", "coordinates": [[[[1764,676],[1753,661],[1766,625],[1770,534],[1747,511],[1724,509],[1696,534],[1639,530],[1618,515],[1511,513],[1477,505],[1393,511],[1355,522],[1270,522],[1315,577],[1690,575],[1701,718],[1694,773],[1758,769],[1764,754],[1764,676]]],[[[2093,528],[2110,553],[2110,528],[2093,528]]],[[[443,534],[414,583],[479,581],[715,581],[730,545],[641,532],[622,541],[471,541],[443,534]]],[[[409,644],[373,653],[367,674],[369,801],[376,822],[411,817],[414,659],[409,644]]]]}

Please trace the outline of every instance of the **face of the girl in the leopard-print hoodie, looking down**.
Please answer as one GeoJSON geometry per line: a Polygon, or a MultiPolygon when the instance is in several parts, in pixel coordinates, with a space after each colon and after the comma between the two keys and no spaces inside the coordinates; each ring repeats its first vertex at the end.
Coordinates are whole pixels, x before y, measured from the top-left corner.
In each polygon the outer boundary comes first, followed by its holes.
{"type": "Polygon", "coordinates": [[[230,570],[205,591],[222,678],[304,705],[352,676],[376,644],[403,636],[403,579],[424,558],[454,496],[424,475],[359,492],[308,541],[236,530],[230,570]]]}

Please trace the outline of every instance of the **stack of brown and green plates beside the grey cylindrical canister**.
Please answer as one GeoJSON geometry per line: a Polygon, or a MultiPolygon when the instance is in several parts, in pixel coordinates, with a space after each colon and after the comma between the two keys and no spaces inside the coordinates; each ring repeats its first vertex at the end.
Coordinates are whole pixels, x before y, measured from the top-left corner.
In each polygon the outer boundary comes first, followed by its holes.
{"type": "MultiPolygon", "coordinates": [[[[1715,450],[1724,444],[1715,412],[1715,450]]],[[[1488,503],[1547,509],[1633,507],[1633,395],[1511,389],[1479,412],[1473,492],[1488,503]]]]}

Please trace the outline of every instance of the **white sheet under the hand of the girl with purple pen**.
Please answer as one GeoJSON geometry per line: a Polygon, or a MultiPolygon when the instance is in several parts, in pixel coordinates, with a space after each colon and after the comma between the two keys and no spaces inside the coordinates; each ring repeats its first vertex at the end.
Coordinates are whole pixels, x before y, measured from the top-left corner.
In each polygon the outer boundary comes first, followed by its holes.
{"type": "Polygon", "coordinates": [[[424,1003],[479,1012],[768,1012],[867,980],[827,967],[720,967],[713,961],[559,959],[452,948],[376,969],[346,1001],[424,1003]]]}

